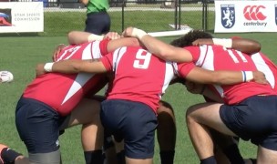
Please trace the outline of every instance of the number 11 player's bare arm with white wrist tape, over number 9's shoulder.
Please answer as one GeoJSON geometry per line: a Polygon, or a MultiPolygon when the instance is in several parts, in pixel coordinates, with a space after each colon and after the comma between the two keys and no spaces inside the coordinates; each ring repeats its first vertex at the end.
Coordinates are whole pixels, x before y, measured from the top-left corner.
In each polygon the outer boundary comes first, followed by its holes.
{"type": "Polygon", "coordinates": [[[180,47],[170,46],[153,36],[147,35],[147,33],[141,29],[128,27],[122,35],[139,38],[139,41],[149,50],[149,52],[164,60],[174,62],[190,62],[192,60],[189,51],[180,47]]]}

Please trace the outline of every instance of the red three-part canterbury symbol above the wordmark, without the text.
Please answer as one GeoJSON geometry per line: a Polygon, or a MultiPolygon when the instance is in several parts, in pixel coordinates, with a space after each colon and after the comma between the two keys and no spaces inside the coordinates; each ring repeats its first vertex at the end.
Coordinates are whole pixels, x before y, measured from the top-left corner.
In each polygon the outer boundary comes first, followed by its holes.
{"type": "Polygon", "coordinates": [[[265,15],[260,11],[265,9],[263,5],[246,5],[243,9],[243,15],[247,20],[264,20],[265,15]]]}

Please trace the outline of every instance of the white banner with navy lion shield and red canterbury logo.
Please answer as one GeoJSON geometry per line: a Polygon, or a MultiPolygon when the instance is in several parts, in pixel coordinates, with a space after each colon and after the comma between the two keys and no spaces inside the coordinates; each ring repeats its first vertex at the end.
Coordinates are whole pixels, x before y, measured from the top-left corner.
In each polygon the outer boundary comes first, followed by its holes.
{"type": "Polygon", "coordinates": [[[215,0],[215,33],[277,32],[277,1],[215,0]]]}

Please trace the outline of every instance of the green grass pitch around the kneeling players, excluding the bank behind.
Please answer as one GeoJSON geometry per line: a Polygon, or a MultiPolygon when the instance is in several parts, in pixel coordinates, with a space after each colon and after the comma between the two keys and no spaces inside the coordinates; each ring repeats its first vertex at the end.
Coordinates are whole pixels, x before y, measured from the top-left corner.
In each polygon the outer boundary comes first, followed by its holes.
{"type": "MultiPolygon", "coordinates": [[[[239,34],[215,35],[219,37],[238,36],[239,34]]],[[[273,61],[275,56],[276,34],[241,34],[240,36],[254,38],[262,43],[262,52],[266,53],[273,61]]],[[[169,42],[172,38],[162,38],[169,42]]],[[[35,67],[39,62],[51,60],[51,55],[56,44],[66,43],[65,36],[33,36],[33,37],[1,37],[0,70],[9,70],[15,80],[9,84],[0,85],[0,142],[9,145],[26,154],[24,144],[18,138],[15,128],[15,105],[23,89],[35,77],[35,67]]],[[[175,109],[177,119],[177,144],[175,163],[198,163],[196,154],[190,143],[184,114],[190,105],[203,101],[202,97],[189,94],[180,85],[170,86],[163,97],[175,109]]],[[[70,128],[60,138],[62,158],[65,164],[84,163],[83,152],[80,144],[80,128],[70,128]]],[[[254,157],[256,148],[248,142],[241,142],[241,152],[244,157],[254,157]]],[[[159,146],[156,144],[155,163],[159,163],[159,146]]]]}

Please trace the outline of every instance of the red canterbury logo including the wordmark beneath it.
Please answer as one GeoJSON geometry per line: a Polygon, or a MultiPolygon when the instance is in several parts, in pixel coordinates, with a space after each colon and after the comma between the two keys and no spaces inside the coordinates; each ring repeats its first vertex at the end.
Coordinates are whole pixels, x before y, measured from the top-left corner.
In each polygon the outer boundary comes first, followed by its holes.
{"type": "Polygon", "coordinates": [[[243,26],[266,26],[267,18],[264,15],[266,7],[264,5],[246,5],[243,9],[243,15],[246,19],[246,22],[243,23],[243,26]]]}

